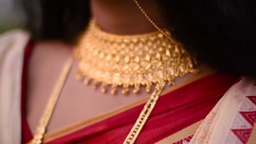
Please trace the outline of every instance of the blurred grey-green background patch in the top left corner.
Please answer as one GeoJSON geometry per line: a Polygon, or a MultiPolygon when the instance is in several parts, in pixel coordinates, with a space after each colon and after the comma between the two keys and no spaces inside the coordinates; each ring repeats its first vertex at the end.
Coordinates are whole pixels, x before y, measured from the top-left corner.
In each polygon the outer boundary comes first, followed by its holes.
{"type": "Polygon", "coordinates": [[[24,26],[24,15],[18,0],[0,0],[0,34],[24,26]]]}

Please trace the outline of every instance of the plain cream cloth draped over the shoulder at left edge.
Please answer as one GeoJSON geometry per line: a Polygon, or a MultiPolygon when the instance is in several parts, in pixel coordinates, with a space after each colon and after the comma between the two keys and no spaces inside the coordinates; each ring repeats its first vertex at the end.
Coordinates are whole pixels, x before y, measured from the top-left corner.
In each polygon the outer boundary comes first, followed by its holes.
{"type": "Polygon", "coordinates": [[[21,77],[29,34],[0,35],[0,143],[21,143],[21,77]]]}

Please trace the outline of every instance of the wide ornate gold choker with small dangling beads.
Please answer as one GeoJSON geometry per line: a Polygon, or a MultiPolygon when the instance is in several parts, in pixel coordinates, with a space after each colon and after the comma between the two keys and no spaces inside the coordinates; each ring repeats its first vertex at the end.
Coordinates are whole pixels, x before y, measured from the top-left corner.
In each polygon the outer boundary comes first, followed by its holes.
{"type": "Polygon", "coordinates": [[[94,80],[94,87],[101,83],[102,92],[110,86],[112,94],[118,86],[123,87],[124,94],[129,87],[139,92],[140,86],[150,92],[153,84],[165,81],[172,85],[176,77],[197,72],[195,58],[162,33],[114,35],[103,32],[95,20],[82,35],[75,57],[79,61],[78,79],[85,84],[94,80]]]}

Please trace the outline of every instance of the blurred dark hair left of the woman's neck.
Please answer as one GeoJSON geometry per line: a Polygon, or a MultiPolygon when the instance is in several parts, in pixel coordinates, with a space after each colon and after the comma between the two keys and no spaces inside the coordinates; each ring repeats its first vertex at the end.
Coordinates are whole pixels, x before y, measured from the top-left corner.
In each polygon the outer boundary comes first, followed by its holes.
{"type": "Polygon", "coordinates": [[[35,39],[61,39],[74,43],[90,18],[86,0],[21,0],[26,27],[35,39]]]}

